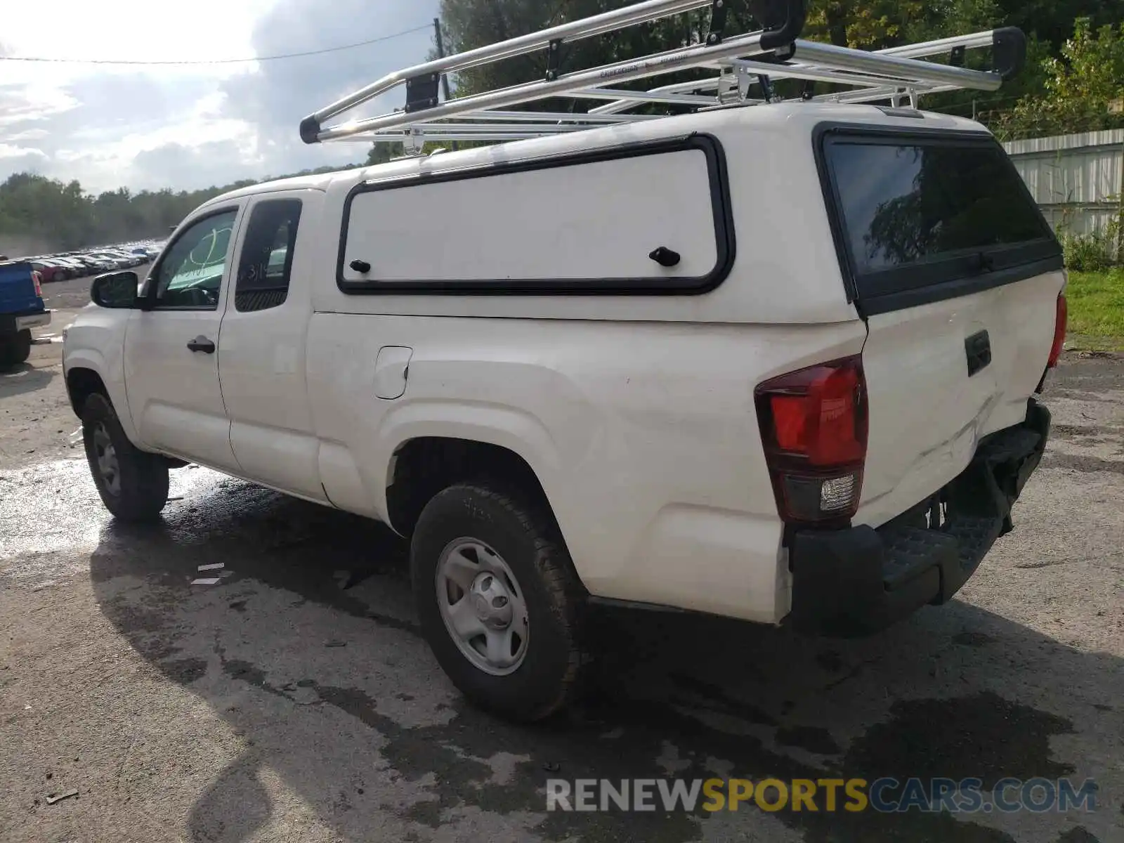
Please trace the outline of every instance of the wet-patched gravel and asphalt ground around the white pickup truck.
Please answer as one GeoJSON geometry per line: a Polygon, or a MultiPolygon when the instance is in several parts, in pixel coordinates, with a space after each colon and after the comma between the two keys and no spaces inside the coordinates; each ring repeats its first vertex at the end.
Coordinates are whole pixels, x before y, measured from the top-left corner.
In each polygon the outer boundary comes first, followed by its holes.
{"type": "Polygon", "coordinates": [[[951,605],[858,642],[606,614],[587,697],[525,728],[445,680],[380,526],[196,466],[161,526],[109,519],[49,336],[88,288],[48,285],[45,341],[0,374],[0,840],[1124,841],[1124,360],[1052,377],[1015,532],[951,605]],[[1094,779],[1097,810],[544,796],[551,778],[882,776],[1094,779]]]}

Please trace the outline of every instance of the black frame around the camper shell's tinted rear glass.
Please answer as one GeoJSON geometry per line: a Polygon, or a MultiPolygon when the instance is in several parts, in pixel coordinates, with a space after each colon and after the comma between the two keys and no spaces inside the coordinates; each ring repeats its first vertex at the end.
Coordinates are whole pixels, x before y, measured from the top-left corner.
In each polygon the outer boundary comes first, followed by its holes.
{"type": "Polygon", "coordinates": [[[863,318],[970,296],[1063,269],[1064,257],[1061,244],[1049,223],[1039,211],[1043,227],[1043,236],[1040,239],[982,250],[985,254],[996,261],[997,265],[991,272],[981,272],[975,266],[976,257],[981,250],[966,250],[963,253],[950,253],[939,260],[918,261],[906,266],[867,273],[863,275],[864,287],[871,285],[873,281],[876,291],[871,292],[864,289],[860,292],[860,273],[855,269],[856,264],[851,253],[850,238],[843,221],[842,202],[827,155],[830,144],[839,138],[847,137],[859,138],[864,143],[887,145],[909,142],[933,145],[935,142],[942,146],[996,148],[1017,179],[1019,190],[1026,201],[1035,208],[1037,208],[1037,203],[1003,146],[989,132],[914,126],[889,127],[861,123],[826,121],[818,124],[813,132],[813,151],[823,189],[824,205],[827,209],[840,270],[846,285],[847,301],[855,305],[863,318]]]}

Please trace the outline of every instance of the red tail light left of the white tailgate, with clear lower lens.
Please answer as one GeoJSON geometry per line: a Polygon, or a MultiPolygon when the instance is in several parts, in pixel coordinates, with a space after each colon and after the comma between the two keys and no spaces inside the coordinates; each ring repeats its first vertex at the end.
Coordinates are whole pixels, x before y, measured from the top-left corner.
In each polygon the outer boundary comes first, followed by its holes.
{"type": "Polygon", "coordinates": [[[773,378],[754,398],[781,518],[823,524],[854,517],[867,460],[862,359],[773,378]]]}

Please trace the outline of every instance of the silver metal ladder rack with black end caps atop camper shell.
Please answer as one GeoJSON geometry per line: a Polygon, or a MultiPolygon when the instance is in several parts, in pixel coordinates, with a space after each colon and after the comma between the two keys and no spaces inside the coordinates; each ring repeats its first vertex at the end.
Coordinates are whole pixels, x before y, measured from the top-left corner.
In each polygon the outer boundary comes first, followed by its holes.
{"type": "Polygon", "coordinates": [[[402,144],[407,153],[416,154],[427,140],[517,140],[665,116],[633,112],[646,103],[689,110],[764,105],[777,101],[772,82],[780,79],[805,81],[803,100],[886,101],[894,107],[908,103],[917,108],[919,98],[926,93],[998,90],[1005,80],[1018,73],[1026,60],[1026,38],[1014,27],[877,52],[804,40],[799,35],[806,17],[805,0],[749,0],[754,19],[764,28],[729,36],[723,28],[727,6],[736,1],[645,0],[395,71],[306,117],[300,124],[300,136],[308,144],[325,140],[397,143],[402,144]],[[558,58],[562,45],[568,42],[607,35],[704,7],[710,8],[710,26],[698,44],[588,70],[560,72],[558,58]],[[991,49],[992,70],[963,66],[967,51],[985,48],[991,49]],[[538,51],[547,52],[545,79],[444,102],[439,100],[443,74],[538,51]],[[934,56],[946,57],[948,63],[924,61],[934,56]],[[692,69],[716,71],[716,74],[649,90],[614,87],[692,69]],[[845,88],[814,96],[816,82],[845,88]],[[327,120],[401,84],[406,85],[405,108],[325,126],[327,120]],[[601,105],[587,112],[510,110],[515,106],[552,98],[598,100],[601,105]]]}

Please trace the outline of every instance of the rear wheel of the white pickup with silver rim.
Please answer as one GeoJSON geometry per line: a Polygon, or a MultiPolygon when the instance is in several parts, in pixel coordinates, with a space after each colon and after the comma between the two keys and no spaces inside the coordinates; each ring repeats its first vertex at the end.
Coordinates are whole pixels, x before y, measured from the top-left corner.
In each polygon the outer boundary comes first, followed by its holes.
{"type": "MultiPolygon", "coordinates": [[[[522,496],[483,484],[445,489],[418,518],[410,543],[410,575],[423,633],[442,669],[471,703],[526,723],[550,716],[572,699],[582,665],[580,622],[584,595],[553,519],[540,507],[528,505],[522,496]],[[465,549],[472,543],[478,546],[465,549]],[[465,584],[475,572],[472,588],[450,587],[450,580],[438,577],[441,571],[451,570],[443,560],[452,549],[461,549],[460,556],[453,552],[453,558],[474,558],[481,563],[474,569],[454,565],[469,572],[457,574],[464,577],[465,584]],[[504,572],[497,573],[496,559],[514,582],[504,572]],[[463,596],[456,598],[457,591],[463,596]],[[481,668],[487,628],[468,642],[451,626],[455,609],[443,608],[442,604],[455,602],[475,610],[481,597],[497,605],[497,593],[510,598],[498,611],[506,605],[516,613],[509,627],[515,631],[513,645],[504,658],[511,652],[522,653],[522,658],[514,665],[497,668],[490,663],[481,668]],[[525,634],[520,633],[520,614],[526,618],[525,634]],[[471,646],[475,656],[466,654],[465,646],[471,646]]],[[[475,624],[487,626],[480,615],[473,617],[475,624]]]]}

